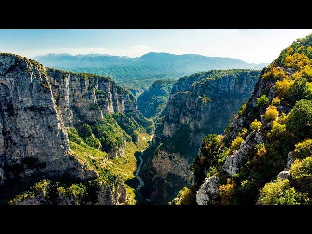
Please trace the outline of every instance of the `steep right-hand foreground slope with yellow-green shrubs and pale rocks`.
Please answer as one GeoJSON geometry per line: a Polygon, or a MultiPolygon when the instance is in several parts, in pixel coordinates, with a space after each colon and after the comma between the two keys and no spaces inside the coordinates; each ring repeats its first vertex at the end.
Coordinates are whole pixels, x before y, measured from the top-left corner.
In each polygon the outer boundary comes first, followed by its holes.
{"type": "Polygon", "coordinates": [[[204,138],[175,204],[312,203],[312,34],[263,69],[224,136],[204,138]]]}

